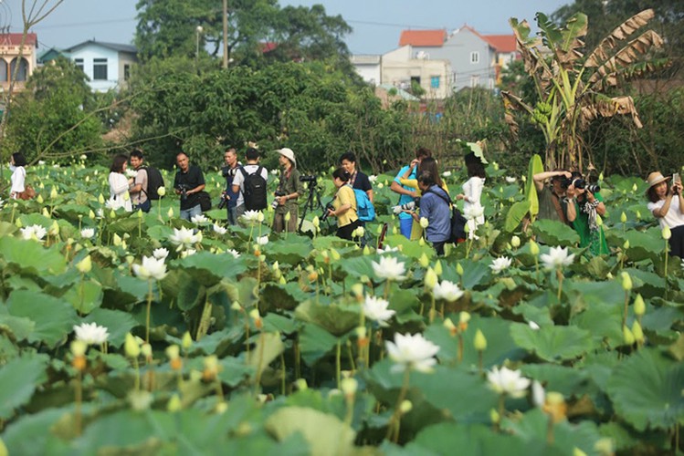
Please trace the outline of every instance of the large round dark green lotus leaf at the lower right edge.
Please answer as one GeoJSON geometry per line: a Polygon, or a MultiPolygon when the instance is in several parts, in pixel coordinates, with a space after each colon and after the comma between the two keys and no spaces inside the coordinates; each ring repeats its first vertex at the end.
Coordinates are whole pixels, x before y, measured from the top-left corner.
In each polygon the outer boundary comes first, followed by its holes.
{"type": "Polygon", "coordinates": [[[618,415],[637,430],[665,430],[684,424],[683,388],[683,363],[642,348],[613,370],[607,393],[618,415]]]}

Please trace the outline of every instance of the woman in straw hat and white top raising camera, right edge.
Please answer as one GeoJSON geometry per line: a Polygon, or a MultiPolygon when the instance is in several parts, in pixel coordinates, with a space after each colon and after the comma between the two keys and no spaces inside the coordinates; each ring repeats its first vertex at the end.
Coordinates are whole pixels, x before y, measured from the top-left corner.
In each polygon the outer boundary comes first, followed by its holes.
{"type": "Polygon", "coordinates": [[[660,171],[648,174],[646,192],[648,198],[648,210],[658,219],[660,228],[666,226],[670,229],[669,252],[670,254],[684,258],[684,195],[682,195],[681,181],[675,179],[668,186],[670,176],[663,177],[660,171]]]}

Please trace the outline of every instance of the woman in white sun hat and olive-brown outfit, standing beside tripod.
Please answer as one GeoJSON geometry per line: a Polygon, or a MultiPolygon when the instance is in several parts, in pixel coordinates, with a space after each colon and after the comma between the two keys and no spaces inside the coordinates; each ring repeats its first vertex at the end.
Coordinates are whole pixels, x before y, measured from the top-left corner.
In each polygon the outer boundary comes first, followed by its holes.
{"type": "Polygon", "coordinates": [[[273,217],[271,229],[275,233],[282,233],[286,230],[289,233],[293,233],[297,231],[299,211],[297,199],[304,193],[304,189],[300,181],[300,171],[297,171],[297,160],[295,159],[294,152],[288,148],[277,151],[280,154],[279,163],[282,170],[280,170],[280,180],[274,202],[276,204],[276,214],[273,217]],[[289,221],[286,223],[287,213],[289,213],[289,221]]]}

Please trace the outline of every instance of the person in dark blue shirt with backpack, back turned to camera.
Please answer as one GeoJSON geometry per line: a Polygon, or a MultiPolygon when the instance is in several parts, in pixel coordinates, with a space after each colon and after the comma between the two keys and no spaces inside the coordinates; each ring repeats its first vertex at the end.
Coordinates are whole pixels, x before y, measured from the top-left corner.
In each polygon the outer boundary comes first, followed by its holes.
{"type": "Polygon", "coordinates": [[[420,223],[421,218],[427,219],[426,240],[432,243],[437,255],[441,256],[444,254],[444,244],[451,236],[449,195],[437,185],[429,172],[422,172],[418,176],[418,188],[423,194],[420,198],[420,217],[416,211],[407,213],[413,217],[414,223],[420,223]]]}

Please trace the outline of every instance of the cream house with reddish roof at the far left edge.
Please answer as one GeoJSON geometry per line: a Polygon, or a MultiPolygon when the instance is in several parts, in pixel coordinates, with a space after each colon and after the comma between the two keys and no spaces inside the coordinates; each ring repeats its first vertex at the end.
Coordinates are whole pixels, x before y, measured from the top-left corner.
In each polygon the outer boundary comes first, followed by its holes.
{"type": "Polygon", "coordinates": [[[26,38],[21,33],[0,34],[0,84],[3,90],[9,88],[12,78],[16,80],[16,91],[26,87],[26,79],[36,69],[37,47],[38,38],[35,33],[26,34],[26,38]],[[22,40],[24,47],[21,46],[22,40]]]}

